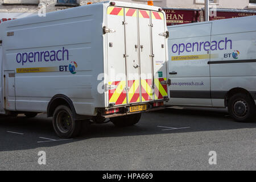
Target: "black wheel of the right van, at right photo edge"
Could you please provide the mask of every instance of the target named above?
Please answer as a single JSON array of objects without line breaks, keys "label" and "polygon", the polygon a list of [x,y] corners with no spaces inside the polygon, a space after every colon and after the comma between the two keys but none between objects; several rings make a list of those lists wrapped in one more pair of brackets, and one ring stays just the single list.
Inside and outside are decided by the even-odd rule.
[{"label": "black wheel of the right van, at right photo edge", "polygon": [[237,122],[251,122],[255,117],[256,106],[247,94],[237,93],[230,97],[228,111]]}]

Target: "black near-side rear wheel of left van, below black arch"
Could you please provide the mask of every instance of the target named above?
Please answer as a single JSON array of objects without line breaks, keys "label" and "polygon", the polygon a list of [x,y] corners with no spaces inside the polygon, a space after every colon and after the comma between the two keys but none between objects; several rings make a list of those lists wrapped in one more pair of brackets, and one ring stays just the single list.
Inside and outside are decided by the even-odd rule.
[{"label": "black near-side rear wheel of left van, below black arch", "polygon": [[55,109],[52,125],[60,138],[76,137],[81,130],[81,121],[76,121],[72,117],[71,109],[65,105],[60,105]]}]

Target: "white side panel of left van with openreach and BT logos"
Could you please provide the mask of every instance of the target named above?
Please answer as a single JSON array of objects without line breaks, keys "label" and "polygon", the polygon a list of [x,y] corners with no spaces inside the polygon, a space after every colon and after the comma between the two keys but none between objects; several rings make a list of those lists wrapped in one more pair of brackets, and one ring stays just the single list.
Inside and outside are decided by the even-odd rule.
[{"label": "white side panel of left van with openreach and BT logos", "polygon": [[97,92],[104,72],[103,5],[57,11],[6,23],[3,70],[15,71],[17,111],[44,112],[56,94],[71,98],[76,113],[104,107]]}]

